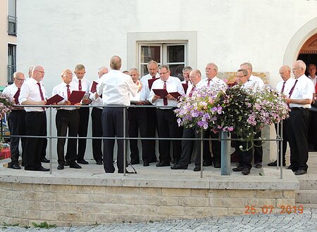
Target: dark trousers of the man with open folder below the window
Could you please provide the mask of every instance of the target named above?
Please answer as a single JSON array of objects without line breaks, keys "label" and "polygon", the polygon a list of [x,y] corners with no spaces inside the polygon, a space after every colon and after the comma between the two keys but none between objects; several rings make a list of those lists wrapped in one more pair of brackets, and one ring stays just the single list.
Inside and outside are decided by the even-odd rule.
[{"label": "dark trousers of the man with open folder below the window", "polygon": [[[173,111],[156,109],[158,130],[160,138],[181,138],[182,128],[178,127],[176,115]],[[161,162],[170,162],[170,142],[173,146],[173,160],[178,162],[181,153],[180,140],[160,140],[159,141],[159,160]]]}]

